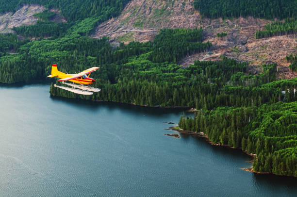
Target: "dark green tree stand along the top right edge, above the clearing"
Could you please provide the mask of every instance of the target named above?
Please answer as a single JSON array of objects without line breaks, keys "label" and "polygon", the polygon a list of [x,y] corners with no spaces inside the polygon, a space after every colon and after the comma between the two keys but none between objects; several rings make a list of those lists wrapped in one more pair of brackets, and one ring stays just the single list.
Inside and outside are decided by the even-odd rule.
[{"label": "dark green tree stand along the top right edge, above the clearing", "polygon": [[284,19],[297,16],[297,0],[194,0],[194,7],[209,18],[254,16]]}]

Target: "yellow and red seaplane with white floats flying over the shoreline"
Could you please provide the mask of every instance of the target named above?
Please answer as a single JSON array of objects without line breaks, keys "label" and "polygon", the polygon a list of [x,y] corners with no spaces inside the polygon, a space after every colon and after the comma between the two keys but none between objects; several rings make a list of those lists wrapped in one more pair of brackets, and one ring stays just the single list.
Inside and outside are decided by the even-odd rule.
[{"label": "yellow and red seaplane with white floats flying over the shoreline", "polygon": [[[48,77],[60,78],[60,80],[58,80],[59,82],[62,82],[63,84],[70,86],[70,87],[66,87],[66,86],[55,84],[54,85],[55,87],[73,92],[75,94],[92,95],[94,92],[101,91],[101,89],[99,88],[88,86],[89,84],[92,84],[93,82],[96,81],[90,78],[91,72],[94,72],[98,69],[99,67],[91,67],[78,74],[66,74],[64,72],[59,71],[57,65],[54,64],[51,66],[51,74]],[[72,83],[68,83],[68,81]],[[78,84],[74,84],[74,83],[78,83]]]}]

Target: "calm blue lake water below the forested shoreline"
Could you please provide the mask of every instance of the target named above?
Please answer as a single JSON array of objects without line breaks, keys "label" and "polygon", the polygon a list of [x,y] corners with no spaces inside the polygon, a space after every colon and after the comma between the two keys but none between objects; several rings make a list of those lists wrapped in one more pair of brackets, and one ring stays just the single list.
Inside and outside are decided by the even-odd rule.
[{"label": "calm blue lake water below the forested shoreline", "polygon": [[[0,87],[0,196],[297,196],[297,180],[254,175],[240,151],[165,136],[181,110]],[[191,115],[191,114],[189,114]]]}]

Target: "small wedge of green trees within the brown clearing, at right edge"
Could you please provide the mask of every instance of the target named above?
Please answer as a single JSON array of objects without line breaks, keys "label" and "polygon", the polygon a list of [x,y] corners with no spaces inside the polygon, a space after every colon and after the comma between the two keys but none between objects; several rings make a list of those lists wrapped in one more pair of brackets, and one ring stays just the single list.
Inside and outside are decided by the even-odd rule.
[{"label": "small wedge of green trees within the brown clearing, at right edge", "polygon": [[264,31],[257,31],[255,33],[256,39],[279,36],[279,35],[288,35],[288,34],[297,34],[297,20],[285,20],[284,22],[272,22],[265,25]]}]

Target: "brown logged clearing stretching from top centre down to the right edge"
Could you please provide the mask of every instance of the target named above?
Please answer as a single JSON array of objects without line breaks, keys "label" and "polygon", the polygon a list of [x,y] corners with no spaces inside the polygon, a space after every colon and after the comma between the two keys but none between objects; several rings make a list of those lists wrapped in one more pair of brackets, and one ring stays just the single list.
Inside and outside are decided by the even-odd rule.
[{"label": "brown logged clearing stretching from top centre down to the right edge", "polygon": [[[255,39],[255,33],[263,30],[267,19],[239,17],[234,19],[202,18],[194,8],[194,0],[132,0],[121,15],[100,24],[92,37],[110,37],[114,44],[131,41],[152,41],[163,28],[204,29],[205,42],[213,44],[212,50],[188,56],[179,62],[189,66],[196,60],[218,60],[220,55],[248,62],[250,71],[258,73],[264,63],[277,63],[279,79],[297,77],[289,71],[285,56],[296,52],[294,35],[282,35]],[[217,33],[228,33],[218,39]]]}]

